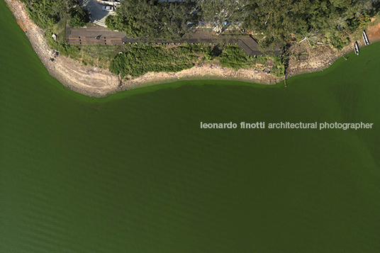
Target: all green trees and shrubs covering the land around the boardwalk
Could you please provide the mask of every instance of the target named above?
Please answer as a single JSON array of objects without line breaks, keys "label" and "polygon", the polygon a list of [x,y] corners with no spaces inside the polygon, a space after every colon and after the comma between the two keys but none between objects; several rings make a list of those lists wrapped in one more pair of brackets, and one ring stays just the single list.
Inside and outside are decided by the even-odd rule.
[{"label": "all green trees and shrubs covering the land around the boardwalk", "polygon": [[[252,68],[255,58],[248,57],[239,47],[220,47],[216,53],[211,47],[181,46],[173,48],[153,45],[102,47],[67,45],[65,23],[71,27],[85,26],[87,13],[77,0],[22,0],[30,17],[46,31],[49,45],[62,55],[69,55],[83,64],[110,68],[122,76],[136,77],[146,72],[176,72],[202,61],[219,60],[233,69]],[[359,36],[374,16],[380,0],[124,0],[116,9],[116,16],[106,18],[111,30],[124,31],[128,37],[143,41],[179,39],[199,21],[215,29],[216,33],[229,28],[253,33],[259,50],[271,55],[275,48],[288,41],[306,40],[310,45],[318,41],[330,44],[338,50],[350,43],[350,36]],[[57,34],[57,41],[52,40]],[[223,40],[220,36],[220,40]],[[105,47],[104,47],[105,48]],[[118,52],[122,52],[118,54]],[[186,55],[189,52],[189,55]],[[266,58],[267,59],[267,58]],[[269,63],[269,64],[268,64]],[[284,74],[281,57],[267,59],[271,74]],[[272,67],[273,66],[273,67]]]}]

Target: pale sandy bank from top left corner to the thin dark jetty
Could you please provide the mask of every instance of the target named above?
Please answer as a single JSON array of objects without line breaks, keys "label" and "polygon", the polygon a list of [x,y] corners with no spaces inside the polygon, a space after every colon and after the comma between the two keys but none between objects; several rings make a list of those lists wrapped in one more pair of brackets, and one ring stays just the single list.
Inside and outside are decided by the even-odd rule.
[{"label": "pale sandy bank from top left corner to the thin dark jetty", "polygon": [[221,79],[238,79],[262,84],[275,84],[281,79],[276,79],[262,72],[254,73],[252,69],[240,69],[235,71],[222,68],[215,64],[203,64],[181,72],[149,72],[141,77],[130,80],[121,80],[115,74],[106,69],[89,67],[76,62],[69,57],[58,55],[51,61],[52,50],[43,36],[44,30],[35,25],[28,17],[26,8],[20,1],[5,0],[16,17],[18,24],[26,32],[33,49],[43,62],[48,72],[67,88],[87,96],[103,97],[117,91],[134,89],[145,83],[162,83],[165,81],[184,79],[189,77],[200,78],[216,76]]}]

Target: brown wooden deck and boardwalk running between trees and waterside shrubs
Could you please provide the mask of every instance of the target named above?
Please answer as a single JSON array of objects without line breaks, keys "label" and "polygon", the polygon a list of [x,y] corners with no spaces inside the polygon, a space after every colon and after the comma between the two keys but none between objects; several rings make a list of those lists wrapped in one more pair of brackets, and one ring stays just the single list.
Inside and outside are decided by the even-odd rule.
[{"label": "brown wooden deck and boardwalk running between trees and waterside shrubs", "polygon": [[[96,36],[100,36],[99,40]],[[125,43],[138,43],[140,40],[134,38],[127,38],[125,33],[109,30],[108,28],[92,26],[86,28],[67,28],[66,40],[68,44],[93,44],[93,45],[123,45]],[[264,55],[259,51],[256,41],[249,35],[211,35],[210,33],[203,33],[201,30],[196,30],[195,33],[185,34],[180,40],[155,40],[153,43],[226,43],[236,44],[242,48],[247,55]],[[274,52],[279,55],[279,50]]]}]

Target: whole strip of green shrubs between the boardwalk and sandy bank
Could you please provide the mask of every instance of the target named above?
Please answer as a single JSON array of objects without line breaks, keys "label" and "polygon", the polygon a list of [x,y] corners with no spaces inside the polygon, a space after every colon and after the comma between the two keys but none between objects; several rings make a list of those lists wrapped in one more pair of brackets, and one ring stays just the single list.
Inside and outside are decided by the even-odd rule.
[{"label": "whole strip of green shrubs between the boardwalk and sandy bank", "polygon": [[272,67],[271,74],[281,77],[284,64],[279,56],[250,57],[238,45],[182,45],[166,48],[145,43],[144,45],[128,45],[123,52],[111,60],[109,69],[122,77],[138,77],[147,72],[178,72],[196,64],[217,60],[223,67],[232,69],[252,69],[259,62]]}]

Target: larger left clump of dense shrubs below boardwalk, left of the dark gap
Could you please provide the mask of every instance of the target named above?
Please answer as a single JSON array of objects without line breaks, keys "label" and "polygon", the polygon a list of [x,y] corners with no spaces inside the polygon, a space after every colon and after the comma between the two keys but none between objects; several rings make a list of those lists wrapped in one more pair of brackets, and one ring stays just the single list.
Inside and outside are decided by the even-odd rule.
[{"label": "larger left clump of dense shrubs below boardwalk, left of the dark gap", "polygon": [[127,45],[111,61],[110,70],[122,77],[138,77],[147,72],[178,72],[211,58],[210,47],[183,45],[165,48],[150,44]]}]

